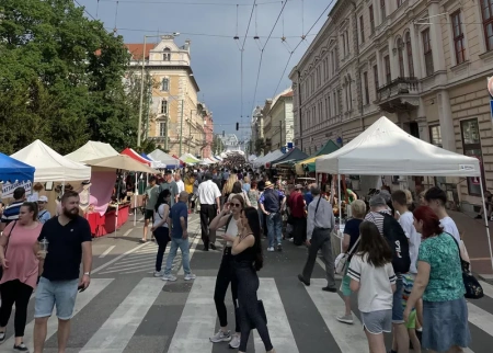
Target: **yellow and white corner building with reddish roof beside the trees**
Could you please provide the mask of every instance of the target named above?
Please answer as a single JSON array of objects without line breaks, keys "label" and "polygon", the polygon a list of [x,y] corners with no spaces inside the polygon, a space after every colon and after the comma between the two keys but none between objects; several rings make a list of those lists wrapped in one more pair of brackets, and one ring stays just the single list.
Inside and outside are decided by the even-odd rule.
[{"label": "yellow and white corner building with reddish roof beside the trees", "polygon": [[191,152],[202,157],[210,152],[211,114],[197,99],[199,88],[191,66],[191,42],[177,46],[174,38],[163,35],[158,44],[126,44],[131,54],[130,67],[140,73],[145,53],[145,71],[152,79],[145,135],[171,155]]}]

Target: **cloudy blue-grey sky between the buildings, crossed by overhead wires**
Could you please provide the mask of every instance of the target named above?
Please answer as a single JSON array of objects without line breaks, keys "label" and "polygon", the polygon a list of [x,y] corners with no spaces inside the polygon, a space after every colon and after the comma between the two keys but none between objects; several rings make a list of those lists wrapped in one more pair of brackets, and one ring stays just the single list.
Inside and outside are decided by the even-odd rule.
[{"label": "cloudy blue-grey sky between the buildings, crossed by overhead wires", "polygon": [[[245,36],[253,0],[78,0],[77,2],[84,5],[91,15],[103,21],[110,31],[116,27],[126,43],[142,43],[146,34],[172,32],[181,33],[176,38],[179,45],[183,45],[184,41],[190,38],[192,68],[200,88],[198,96],[213,111],[215,133],[226,130],[236,133],[240,138],[246,138],[252,110],[261,105],[265,99],[290,86],[288,73],[323,25],[328,11],[308,33],[306,41],[301,41],[300,36],[307,34],[332,1],[288,0],[271,39],[266,43],[284,3],[280,0],[257,0],[244,44],[243,84],[241,84],[239,46]],[[237,34],[240,37],[239,43],[233,39]],[[259,35],[260,41],[255,41],[254,35]],[[287,37],[286,43],[282,42],[282,36]],[[300,42],[283,76],[290,52]],[[264,55],[255,91],[262,47]],[[236,122],[240,122],[244,127],[240,133],[236,132]]]}]

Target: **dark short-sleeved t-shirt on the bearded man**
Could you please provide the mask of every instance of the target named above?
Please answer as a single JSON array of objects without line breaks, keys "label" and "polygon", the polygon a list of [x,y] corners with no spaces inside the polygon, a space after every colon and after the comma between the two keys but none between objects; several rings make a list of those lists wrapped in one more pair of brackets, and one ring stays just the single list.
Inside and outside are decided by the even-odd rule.
[{"label": "dark short-sleeved t-shirt on the bearded man", "polygon": [[77,216],[62,226],[58,217],[43,225],[38,241],[48,240],[48,253],[43,265],[43,277],[49,281],[79,278],[82,243],[91,241],[91,227],[85,218]]}]

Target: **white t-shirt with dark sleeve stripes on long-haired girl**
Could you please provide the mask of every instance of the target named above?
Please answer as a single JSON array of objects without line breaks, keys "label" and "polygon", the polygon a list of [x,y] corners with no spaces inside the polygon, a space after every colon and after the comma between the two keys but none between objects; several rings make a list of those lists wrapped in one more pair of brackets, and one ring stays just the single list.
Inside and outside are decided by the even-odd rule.
[{"label": "white t-shirt with dark sleeve stripes on long-haired girl", "polygon": [[348,276],[359,282],[358,309],[362,312],[372,312],[378,310],[392,309],[393,292],[392,284],[395,284],[395,274],[392,263],[375,267],[366,262],[359,254],[355,254],[351,260]]}]

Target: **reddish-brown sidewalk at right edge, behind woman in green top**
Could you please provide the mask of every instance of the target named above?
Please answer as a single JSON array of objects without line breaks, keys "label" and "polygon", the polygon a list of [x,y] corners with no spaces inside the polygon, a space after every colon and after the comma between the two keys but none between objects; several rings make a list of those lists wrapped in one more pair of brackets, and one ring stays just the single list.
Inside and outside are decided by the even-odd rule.
[{"label": "reddish-brown sidewalk at right edge, behind woman in green top", "polygon": [[[483,277],[483,280],[493,280],[484,219],[474,219],[475,214],[473,213],[447,212],[462,234],[462,240],[471,259],[472,272]],[[491,237],[493,237],[493,221],[489,221],[489,224],[492,232]]]}]

